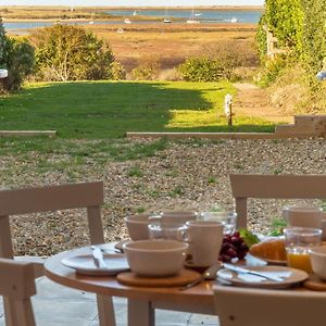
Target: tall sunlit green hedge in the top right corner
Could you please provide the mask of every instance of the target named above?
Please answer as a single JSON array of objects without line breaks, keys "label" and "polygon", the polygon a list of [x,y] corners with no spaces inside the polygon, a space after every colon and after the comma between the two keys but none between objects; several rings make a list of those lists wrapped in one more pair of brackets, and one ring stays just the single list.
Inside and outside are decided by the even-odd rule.
[{"label": "tall sunlit green hedge in the top right corner", "polygon": [[[289,64],[297,61],[305,68],[306,84],[313,91],[321,85],[315,78],[326,58],[326,7],[325,0],[266,0],[265,12],[256,34],[263,65],[266,63],[267,26],[277,37],[277,47],[287,50]],[[269,64],[267,62],[267,64]],[[265,68],[267,74],[268,67]],[[274,78],[266,77],[266,80]]]}]

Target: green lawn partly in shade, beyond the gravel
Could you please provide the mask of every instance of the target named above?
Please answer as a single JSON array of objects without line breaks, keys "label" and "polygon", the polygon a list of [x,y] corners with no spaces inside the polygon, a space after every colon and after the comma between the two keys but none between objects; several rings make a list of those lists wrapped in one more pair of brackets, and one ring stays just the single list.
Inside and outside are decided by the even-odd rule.
[{"label": "green lawn partly in shade, beyond the gravel", "polygon": [[76,82],[28,84],[0,98],[0,129],[55,129],[60,138],[122,138],[126,131],[271,131],[262,120],[223,116],[230,83]]}]

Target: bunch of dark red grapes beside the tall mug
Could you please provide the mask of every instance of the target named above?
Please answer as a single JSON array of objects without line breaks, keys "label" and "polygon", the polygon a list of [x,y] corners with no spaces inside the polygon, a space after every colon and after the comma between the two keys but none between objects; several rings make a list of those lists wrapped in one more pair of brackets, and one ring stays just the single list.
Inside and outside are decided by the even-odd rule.
[{"label": "bunch of dark red grapes beside the tall mug", "polygon": [[244,243],[240,233],[235,231],[233,235],[224,235],[218,260],[222,262],[242,260],[248,250],[249,247]]}]

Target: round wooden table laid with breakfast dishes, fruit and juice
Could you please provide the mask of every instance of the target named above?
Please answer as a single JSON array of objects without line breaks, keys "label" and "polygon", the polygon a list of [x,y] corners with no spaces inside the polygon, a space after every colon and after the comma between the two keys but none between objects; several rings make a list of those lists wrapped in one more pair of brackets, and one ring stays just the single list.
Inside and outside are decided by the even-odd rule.
[{"label": "round wooden table laid with breakfast dishes, fruit and juice", "polygon": [[215,315],[215,285],[326,291],[325,214],[289,206],[283,215],[280,237],[237,229],[233,211],[129,215],[129,239],[61,252],[45,273],[66,287],[127,298],[129,326],[155,325],[155,309]]}]

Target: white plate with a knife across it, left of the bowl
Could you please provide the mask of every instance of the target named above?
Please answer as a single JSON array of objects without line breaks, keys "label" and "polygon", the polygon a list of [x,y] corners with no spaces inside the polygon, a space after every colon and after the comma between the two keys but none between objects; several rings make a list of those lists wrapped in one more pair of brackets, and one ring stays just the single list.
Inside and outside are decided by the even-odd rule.
[{"label": "white plate with a knife across it, left of the bowl", "polygon": [[103,259],[108,268],[97,267],[91,253],[73,254],[62,259],[61,263],[85,275],[116,275],[120,272],[129,269],[127,259],[124,254],[103,253]]}]

